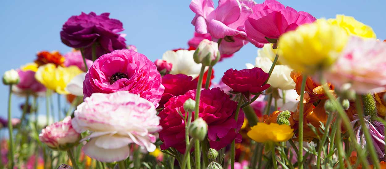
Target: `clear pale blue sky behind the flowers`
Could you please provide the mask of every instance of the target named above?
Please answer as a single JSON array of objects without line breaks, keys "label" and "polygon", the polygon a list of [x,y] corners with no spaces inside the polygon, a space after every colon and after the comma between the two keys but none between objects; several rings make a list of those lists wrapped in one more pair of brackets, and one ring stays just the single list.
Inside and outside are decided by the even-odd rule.
[{"label": "clear pale blue sky behind the flowers", "polygon": [[[261,3],[262,0],[255,0]],[[355,17],[370,25],[377,37],[386,38],[385,0],[279,0],[298,11],[306,11],[316,18],[334,18],[336,14]],[[109,12],[119,19],[126,33],[126,43],[137,46],[138,51],[154,61],[175,48],[186,48],[193,36],[191,20],[194,13],[189,0],[65,0],[65,1],[2,1],[0,7],[0,73],[31,62],[41,50],[70,48],[61,43],[59,32],[71,15],[81,12]],[[215,4],[217,1],[215,0]],[[215,81],[229,68],[244,69],[245,63],[254,63],[257,48],[245,45],[232,58],[215,65]],[[6,117],[8,88],[0,85],[0,116]],[[54,97],[56,103],[56,97]],[[23,99],[14,96],[13,116],[20,117],[19,105]],[[40,101],[44,109],[44,101]],[[63,105],[63,104],[62,104]],[[56,109],[55,109],[56,110]],[[43,113],[44,111],[40,111]]]}]

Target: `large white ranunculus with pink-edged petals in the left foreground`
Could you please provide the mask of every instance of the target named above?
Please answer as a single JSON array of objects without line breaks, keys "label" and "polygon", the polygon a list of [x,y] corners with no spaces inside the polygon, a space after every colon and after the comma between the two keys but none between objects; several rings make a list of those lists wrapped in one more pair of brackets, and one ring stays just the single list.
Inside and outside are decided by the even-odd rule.
[{"label": "large white ranunculus with pink-edged petals in the left foreground", "polygon": [[[103,57],[103,56],[102,56]],[[139,94],[129,91],[93,93],[75,110],[72,121],[74,129],[92,133],[83,152],[98,161],[122,161],[129,156],[130,143],[156,149],[154,133],[159,131],[159,117],[154,104]]]}]

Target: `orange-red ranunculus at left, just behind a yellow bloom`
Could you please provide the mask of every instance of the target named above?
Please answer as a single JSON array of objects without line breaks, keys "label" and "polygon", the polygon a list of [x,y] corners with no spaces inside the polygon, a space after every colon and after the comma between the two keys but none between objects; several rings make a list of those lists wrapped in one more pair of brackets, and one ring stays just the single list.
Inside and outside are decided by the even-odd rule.
[{"label": "orange-red ranunculus at left, just behind a yellow bloom", "polygon": [[39,66],[47,63],[53,63],[56,66],[64,66],[64,57],[59,53],[59,51],[41,51],[37,53],[35,63]]}]

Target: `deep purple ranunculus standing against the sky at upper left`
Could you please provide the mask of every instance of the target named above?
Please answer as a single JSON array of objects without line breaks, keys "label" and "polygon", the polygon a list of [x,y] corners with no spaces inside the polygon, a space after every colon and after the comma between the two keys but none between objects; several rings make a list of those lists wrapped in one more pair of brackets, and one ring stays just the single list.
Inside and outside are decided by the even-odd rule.
[{"label": "deep purple ranunculus standing against the sky at upper left", "polygon": [[95,44],[97,58],[117,49],[125,49],[122,22],[109,18],[110,13],[100,15],[90,12],[68,18],[60,32],[62,42],[72,48],[84,48],[86,58],[92,58]]}]

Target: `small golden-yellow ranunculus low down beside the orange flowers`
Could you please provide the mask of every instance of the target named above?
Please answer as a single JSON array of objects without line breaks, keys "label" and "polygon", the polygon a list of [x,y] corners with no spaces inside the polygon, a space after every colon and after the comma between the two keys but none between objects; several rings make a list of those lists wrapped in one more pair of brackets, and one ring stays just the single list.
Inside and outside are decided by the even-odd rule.
[{"label": "small golden-yellow ranunculus low down beside the orange flowers", "polygon": [[284,142],[292,138],[293,129],[286,124],[257,123],[247,135],[256,142]]}]

